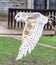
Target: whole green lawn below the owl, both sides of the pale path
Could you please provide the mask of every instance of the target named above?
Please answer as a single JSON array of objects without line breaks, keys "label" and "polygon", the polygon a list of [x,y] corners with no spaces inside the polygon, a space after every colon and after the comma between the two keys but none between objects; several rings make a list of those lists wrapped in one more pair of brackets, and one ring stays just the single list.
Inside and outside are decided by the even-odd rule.
[{"label": "whole green lawn below the owl, both sides of the pale path", "polygon": [[[39,42],[48,42],[53,45],[54,38],[41,37]],[[44,40],[44,41],[43,41]],[[49,40],[49,41],[48,41]],[[37,45],[31,54],[27,54],[22,60],[24,62],[16,62],[13,60],[16,58],[18,49],[21,42],[9,37],[0,37],[0,65],[56,65],[56,50]],[[55,45],[55,44],[54,44]]]}]

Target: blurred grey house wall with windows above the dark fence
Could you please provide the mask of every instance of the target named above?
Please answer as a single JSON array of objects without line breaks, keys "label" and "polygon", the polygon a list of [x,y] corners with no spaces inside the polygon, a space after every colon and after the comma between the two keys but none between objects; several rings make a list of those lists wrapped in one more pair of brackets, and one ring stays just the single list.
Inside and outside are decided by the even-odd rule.
[{"label": "blurred grey house wall with windows above the dark fence", "polygon": [[8,13],[8,8],[56,9],[56,0],[0,0],[0,13]]}]

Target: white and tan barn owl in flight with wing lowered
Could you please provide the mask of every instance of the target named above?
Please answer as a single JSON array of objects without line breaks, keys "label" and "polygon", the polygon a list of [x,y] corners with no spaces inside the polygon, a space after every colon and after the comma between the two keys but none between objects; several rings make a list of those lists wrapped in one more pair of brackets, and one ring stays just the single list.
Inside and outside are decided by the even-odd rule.
[{"label": "white and tan barn owl in flight with wing lowered", "polygon": [[15,16],[16,22],[25,22],[25,27],[22,33],[22,44],[19,48],[19,53],[16,60],[20,60],[23,56],[35,48],[42,35],[44,25],[48,22],[48,17],[39,12],[25,13],[19,12]]}]

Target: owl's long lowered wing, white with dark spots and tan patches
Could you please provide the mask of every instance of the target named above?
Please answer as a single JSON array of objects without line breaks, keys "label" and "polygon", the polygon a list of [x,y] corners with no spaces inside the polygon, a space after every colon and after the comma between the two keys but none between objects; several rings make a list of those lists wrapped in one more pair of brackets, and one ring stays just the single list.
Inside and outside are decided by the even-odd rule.
[{"label": "owl's long lowered wing, white with dark spots and tan patches", "polygon": [[37,19],[36,16],[35,18],[34,16],[26,19],[27,23],[25,24],[25,28],[23,30],[22,45],[19,48],[16,60],[26,56],[27,53],[31,53],[42,35],[44,25],[48,22],[48,18],[42,14],[39,18],[37,16]]}]

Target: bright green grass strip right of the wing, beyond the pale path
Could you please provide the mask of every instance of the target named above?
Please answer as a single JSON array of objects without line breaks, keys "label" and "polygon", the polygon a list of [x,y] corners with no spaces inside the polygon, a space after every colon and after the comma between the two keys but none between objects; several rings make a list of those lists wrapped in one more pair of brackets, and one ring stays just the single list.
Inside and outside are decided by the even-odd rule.
[{"label": "bright green grass strip right of the wing, beyond the pale path", "polygon": [[56,46],[56,36],[42,36],[39,43]]}]

